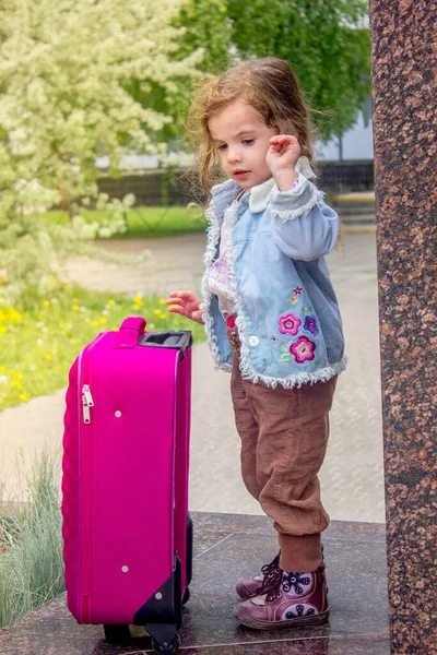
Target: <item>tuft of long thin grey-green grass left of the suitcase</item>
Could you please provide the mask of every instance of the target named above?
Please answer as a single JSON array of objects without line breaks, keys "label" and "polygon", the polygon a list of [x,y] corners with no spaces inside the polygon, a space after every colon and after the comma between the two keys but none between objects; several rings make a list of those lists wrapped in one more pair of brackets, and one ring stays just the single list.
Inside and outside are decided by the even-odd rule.
[{"label": "tuft of long thin grey-green grass left of the suitcase", "polygon": [[23,498],[5,499],[0,483],[0,628],[64,591],[59,480],[59,456],[45,450]]}]

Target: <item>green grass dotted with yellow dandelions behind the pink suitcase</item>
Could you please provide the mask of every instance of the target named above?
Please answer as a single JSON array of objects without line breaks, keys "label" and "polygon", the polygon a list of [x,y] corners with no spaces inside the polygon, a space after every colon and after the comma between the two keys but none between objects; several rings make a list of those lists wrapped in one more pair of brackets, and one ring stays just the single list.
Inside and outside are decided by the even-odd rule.
[{"label": "green grass dotted with yellow dandelions behind the pink suitcase", "polygon": [[191,330],[204,340],[203,326],[167,312],[157,296],[134,299],[88,291],[55,281],[45,300],[0,307],[0,410],[67,386],[80,350],[99,332],[117,330],[128,315],[141,315],[150,332]]}]

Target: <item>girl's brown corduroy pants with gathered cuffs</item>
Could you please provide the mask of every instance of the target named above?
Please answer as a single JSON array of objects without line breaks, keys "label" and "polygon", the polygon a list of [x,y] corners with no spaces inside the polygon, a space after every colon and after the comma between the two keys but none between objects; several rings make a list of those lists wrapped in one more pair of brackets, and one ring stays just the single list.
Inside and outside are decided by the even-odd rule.
[{"label": "girl's brown corduroy pants with gathered cuffs", "polygon": [[249,492],[274,520],[285,571],[315,571],[329,516],[317,474],[328,445],[336,377],[300,388],[271,389],[244,380],[234,352],[231,391],[241,439],[241,474]]}]

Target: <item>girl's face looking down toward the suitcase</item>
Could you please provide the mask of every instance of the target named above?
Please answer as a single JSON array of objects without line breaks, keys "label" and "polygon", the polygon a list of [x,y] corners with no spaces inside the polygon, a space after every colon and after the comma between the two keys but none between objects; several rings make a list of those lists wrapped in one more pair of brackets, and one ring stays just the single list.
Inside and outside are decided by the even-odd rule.
[{"label": "girl's face looking down toward the suitcase", "polygon": [[234,100],[208,122],[224,172],[243,189],[251,189],[272,177],[265,162],[270,139],[268,128],[256,109]]}]

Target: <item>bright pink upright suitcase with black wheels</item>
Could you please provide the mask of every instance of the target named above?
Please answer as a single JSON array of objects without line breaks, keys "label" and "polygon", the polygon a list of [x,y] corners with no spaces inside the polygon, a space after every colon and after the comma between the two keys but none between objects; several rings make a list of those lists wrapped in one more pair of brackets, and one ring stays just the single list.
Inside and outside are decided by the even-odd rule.
[{"label": "bright pink upright suitcase with black wheels", "polygon": [[145,626],[156,653],[179,647],[189,597],[191,333],[128,318],[70,370],[62,457],[68,607],[110,643]]}]

